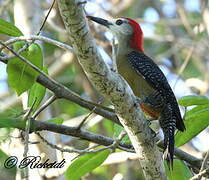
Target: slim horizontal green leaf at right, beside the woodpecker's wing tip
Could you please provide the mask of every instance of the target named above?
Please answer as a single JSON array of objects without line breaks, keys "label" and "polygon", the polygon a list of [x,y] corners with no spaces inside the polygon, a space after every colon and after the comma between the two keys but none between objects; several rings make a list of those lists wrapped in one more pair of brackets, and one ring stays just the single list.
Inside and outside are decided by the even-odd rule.
[{"label": "slim horizontal green leaf at right, beside the woodpecker's wing tip", "polygon": [[206,96],[189,95],[184,96],[178,100],[181,106],[203,105],[209,104],[209,99]]}]

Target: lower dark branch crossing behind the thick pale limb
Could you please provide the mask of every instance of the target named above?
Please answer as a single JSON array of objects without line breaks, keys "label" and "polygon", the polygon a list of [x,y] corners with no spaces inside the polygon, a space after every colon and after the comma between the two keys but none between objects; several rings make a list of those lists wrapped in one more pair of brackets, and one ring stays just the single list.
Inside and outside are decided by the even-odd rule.
[{"label": "lower dark branch crossing behind the thick pale limb", "polygon": [[[2,127],[12,127],[21,130],[25,130],[26,121],[21,118],[10,118],[2,117],[0,118],[0,128]],[[65,125],[57,125],[49,122],[43,122],[39,120],[32,120],[30,125],[30,132],[37,132],[47,130],[54,133],[59,133],[67,136],[78,137],[83,140],[97,143],[99,145],[110,146],[114,143],[114,139],[102,135],[98,135],[83,129],[78,129],[77,127],[69,127]],[[159,147],[163,147],[163,142],[158,144]],[[120,143],[117,148],[127,151],[135,152],[132,145]],[[189,163],[193,168],[200,169],[202,160],[198,159],[178,148],[175,148],[174,154],[181,160]]]}]

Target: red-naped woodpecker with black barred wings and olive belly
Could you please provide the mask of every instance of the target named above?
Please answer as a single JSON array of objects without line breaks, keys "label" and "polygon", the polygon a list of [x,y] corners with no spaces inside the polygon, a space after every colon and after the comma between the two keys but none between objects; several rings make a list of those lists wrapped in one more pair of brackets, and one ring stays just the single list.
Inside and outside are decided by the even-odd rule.
[{"label": "red-naped woodpecker with black barred wings and olive belly", "polygon": [[174,133],[176,128],[186,130],[175,95],[163,72],[144,53],[143,32],[140,25],[130,18],[107,21],[87,16],[88,19],[107,27],[118,40],[116,65],[135,96],[141,99],[141,109],[158,119],[164,134],[164,152],[173,166]]}]

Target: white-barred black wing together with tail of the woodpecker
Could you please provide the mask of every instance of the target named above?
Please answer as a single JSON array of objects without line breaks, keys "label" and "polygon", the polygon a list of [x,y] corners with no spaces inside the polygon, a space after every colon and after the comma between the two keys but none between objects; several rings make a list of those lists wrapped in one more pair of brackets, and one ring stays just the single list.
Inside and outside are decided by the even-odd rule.
[{"label": "white-barred black wing together with tail of the woodpecker", "polygon": [[[160,97],[164,104],[160,113],[159,123],[164,133],[164,150],[167,152],[166,159],[172,166],[175,129],[185,130],[175,95],[163,72],[144,53],[132,51],[128,54],[128,61],[132,68],[157,92],[157,96]],[[151,96],[151,98],[154,98],[153,95]],[[158,101],[159,98],[155,99]]]}]

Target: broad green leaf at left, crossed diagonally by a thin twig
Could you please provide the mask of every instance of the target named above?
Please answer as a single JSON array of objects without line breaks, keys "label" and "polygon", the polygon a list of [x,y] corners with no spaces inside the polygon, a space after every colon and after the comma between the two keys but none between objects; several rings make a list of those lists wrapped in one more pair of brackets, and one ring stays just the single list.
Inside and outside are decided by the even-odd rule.
[{"label": "broad green leaf at left, crossed diagonally by a thin twig", "polygon": [[[23,47],[24,44],[25,43],[22,41],[15,43],[14,50],[17,51]],[[20,53],[20,55],[28,59],[32,64],[42,70],[43,56],[41,48],[38,44],[32,44],[27,50]],[[17,57],[8,61],[7,73],[8,83],[10,87],[17,92],[18,96],[30,89],[39,75],[37,71],[32,69],[29,65]]]}]

